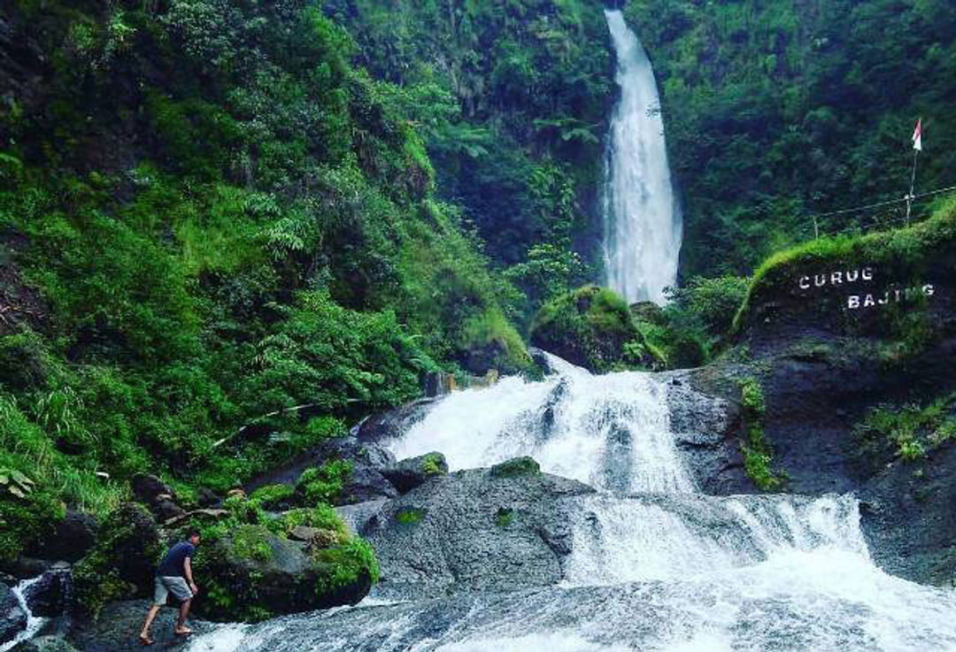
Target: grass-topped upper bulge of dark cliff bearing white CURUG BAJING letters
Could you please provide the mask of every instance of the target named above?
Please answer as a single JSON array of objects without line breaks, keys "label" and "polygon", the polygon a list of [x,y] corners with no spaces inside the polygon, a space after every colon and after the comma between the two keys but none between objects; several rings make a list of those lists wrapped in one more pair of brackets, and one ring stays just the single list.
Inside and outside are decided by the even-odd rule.
[{"label": "grass-topped upper bulge of dark cliff bearing white CURUG BAJING letters", "polygon": [[956,202],[909,228],[814,240],[753,274],[733,330],[750,345],[805,334],[897,342],[906,354],[951,331]]}]

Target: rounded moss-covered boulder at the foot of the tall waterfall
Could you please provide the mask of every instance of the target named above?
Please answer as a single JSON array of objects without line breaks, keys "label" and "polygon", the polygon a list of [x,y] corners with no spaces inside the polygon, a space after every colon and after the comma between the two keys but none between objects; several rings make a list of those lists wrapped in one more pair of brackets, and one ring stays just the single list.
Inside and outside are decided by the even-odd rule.
[{"label": "rounded moss-covered boulder at the foot of the tall waterfall", "polygon": [[598,373],[652,362],[627,303],[596,285],[561,294],[542,306],[532,322],[531,341]]}]

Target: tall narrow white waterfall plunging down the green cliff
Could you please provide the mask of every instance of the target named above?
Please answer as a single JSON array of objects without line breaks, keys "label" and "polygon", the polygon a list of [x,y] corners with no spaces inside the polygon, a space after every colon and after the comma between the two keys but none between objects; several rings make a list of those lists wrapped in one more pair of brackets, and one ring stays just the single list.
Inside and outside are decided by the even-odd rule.
[{"label": "tall narrow white waterfall plunging down the green cliff", "polygon": [[620,11],[604,11],[620,99],[611,120],[603,196],[607,284],[628,302],[664,302],[677,279],[681,212],[667,165],[657,83]]}]

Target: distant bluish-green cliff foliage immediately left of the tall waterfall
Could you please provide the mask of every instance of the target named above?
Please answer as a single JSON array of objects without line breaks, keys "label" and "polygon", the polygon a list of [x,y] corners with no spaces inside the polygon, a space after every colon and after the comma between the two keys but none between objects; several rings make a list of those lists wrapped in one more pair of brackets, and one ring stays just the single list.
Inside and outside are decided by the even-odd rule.
[{"label": "distant bluish-green cliff foliage immediately left of the tall waterfall", "polygon": [[[355,35],[372,75],[400,84],[398,104],[422,125],[438,191],[464,206],[491,257],[530,264],[516,282],[541,292],[530,250],[567,250],[572,231],[587,233],[576,247],[597,258],[594,198],[613,99],[599,5],[515,0],[448,11],[331,0],[325,9]],[[533,297],[525,314],[548,298]]]}]

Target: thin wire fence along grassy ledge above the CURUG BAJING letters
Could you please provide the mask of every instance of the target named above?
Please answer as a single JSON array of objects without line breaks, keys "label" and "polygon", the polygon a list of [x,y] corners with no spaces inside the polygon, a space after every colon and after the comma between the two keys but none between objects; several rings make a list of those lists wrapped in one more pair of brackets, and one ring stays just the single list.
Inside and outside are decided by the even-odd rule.
[{"label": "thin wire fence along grassy ledge above the CURUG BAJING letters", "polygon": [[[806,222],[799,229],[799,235],[807,239],[815,239],[827,235],[905,227],[930,217],[933,214],[932,200],[953,192],[956,192],[956,185],[929,190],[911,197],[904,196],[866,206],[816,213],[807,217]],[[836,224],[834,218],[836,218]]]}]

